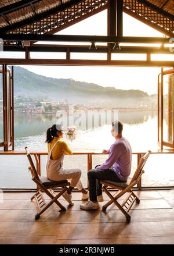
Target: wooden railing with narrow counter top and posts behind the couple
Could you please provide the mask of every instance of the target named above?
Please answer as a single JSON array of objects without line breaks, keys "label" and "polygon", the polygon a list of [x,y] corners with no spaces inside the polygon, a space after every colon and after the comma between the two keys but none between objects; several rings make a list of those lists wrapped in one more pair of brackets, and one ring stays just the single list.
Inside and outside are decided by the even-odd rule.
[{"label": "wooden railing with narrow counter top and posts behind the couple", "polygon": [[[133,152],[132,155],[137,155],[137,165],[139,164],[140,158],[146,152]],[[41,155],[48,155],[46,151],[30,151],[31,155],[34,155],[38,175],[41,175]],[[174,154],[174,149],[169,150],[151,150],[151,154]],[[9,150],[0,151],[0,155],[26,155],[26,151],[23,150]],[[87,155],[88,156],[88,171],[92,169],[92,156],[93,155],[103,155],[102,152],[73,152],[73,155]],[[139,180],[137,189],[142,189],[142,179]]]}]

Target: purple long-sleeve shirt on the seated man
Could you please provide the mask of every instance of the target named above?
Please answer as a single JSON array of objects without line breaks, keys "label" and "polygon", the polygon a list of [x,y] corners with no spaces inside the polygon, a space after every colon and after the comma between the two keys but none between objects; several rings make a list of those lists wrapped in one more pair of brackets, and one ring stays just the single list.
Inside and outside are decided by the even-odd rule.
[{"label": "purple long-sleeve shirt on the seated man", "polygon": [[129,141],[124,137],[115,140],[108,152],[108,158],[97,169],[113,169],[120,180],[126,181],[131,173],[132,161],[132,149]]}]

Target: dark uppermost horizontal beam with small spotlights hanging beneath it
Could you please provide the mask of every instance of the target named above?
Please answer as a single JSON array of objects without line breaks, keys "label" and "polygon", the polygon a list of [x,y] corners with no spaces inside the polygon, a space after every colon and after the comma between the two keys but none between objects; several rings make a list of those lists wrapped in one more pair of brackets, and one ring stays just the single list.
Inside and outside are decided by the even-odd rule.
[{"label": "dark uppermost horizontal beam with small spotlights hanging beneath it", "polygon": [[164,37],[115,37],[105,35],[47,35],[47,34],[0,34],[3,40],[17,41],[66,41],[66,42],[129,42],[129,43],[169,43]]}]

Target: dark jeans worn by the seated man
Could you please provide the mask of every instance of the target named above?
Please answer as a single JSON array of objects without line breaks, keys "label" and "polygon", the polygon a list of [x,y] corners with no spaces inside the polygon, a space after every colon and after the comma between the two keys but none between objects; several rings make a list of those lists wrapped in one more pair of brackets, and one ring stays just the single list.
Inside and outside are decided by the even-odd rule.
[{"label": "dark jeans worn by the seated man", "polygon": [[[97,168],[97,166],[95,168]],[[119,177],[114,172],[114,170],[111,170],[111,169],[89,170],[88,180],[89,180],[89,197],[90,197],[90,201],[93,201],[93,202],[97,201],[97,195],[102,195],[102,184],[100,184],[100,180],[110,180],[111,182],[122,182],[122,180],[119,179]]]}]

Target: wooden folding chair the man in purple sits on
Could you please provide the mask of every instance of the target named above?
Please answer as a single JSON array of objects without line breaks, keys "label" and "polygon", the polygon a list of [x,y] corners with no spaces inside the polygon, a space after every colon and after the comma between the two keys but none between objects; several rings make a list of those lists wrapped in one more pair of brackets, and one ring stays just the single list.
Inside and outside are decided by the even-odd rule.
[{"label": "wooden folding chair the man in purple sits on", "polygon": [[[126,216],[126,221],[131,221],[131,216],[128,214],[130,209],[132,208],[132,205],[136,201],[138,204],[140,202],[139,198],[137,198],[136,194],[133,193],[132,188],[139,182],[140,177],[142,177],[144,170],[143,167],[147,161],[147,158],[149,157],[151,151],[149,150],[142,158],[140,158],[139,165],[137,166],[137,169],[135,171],[135,174],[133,175],[131,181],[129,182],[129,178],[127,182],[110,182],[108,180],[102,180],[100,183],[103,184],[103,191],[106,192],[108,197],[111,198],[110,201],[107,202],[107,204],[103,205],[102,210],[106,211],[107,207],[111,204],[117,205],[117,207],[122,211],[122,213]],[[107,187],[112,187],[113,189],[117,189],[118,192],[113,196],[111,195],[110,191],[108,191]],[[122,202],[122,204],[119,204],[118,199],[124,195],[125,193],[128,193],[125,200]]]}]

